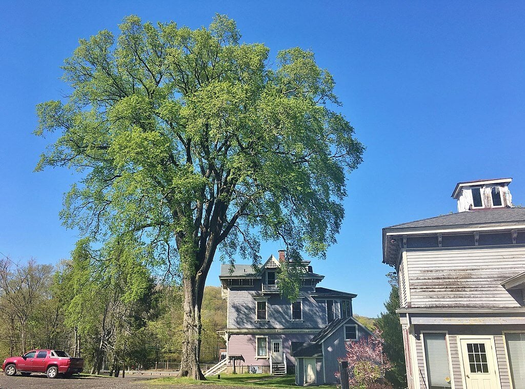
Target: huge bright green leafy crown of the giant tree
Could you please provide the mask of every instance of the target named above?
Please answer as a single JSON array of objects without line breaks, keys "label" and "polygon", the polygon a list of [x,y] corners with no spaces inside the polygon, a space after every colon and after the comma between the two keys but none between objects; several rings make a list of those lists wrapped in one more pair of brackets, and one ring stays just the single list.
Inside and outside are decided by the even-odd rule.
[{"label": "huge bright green leafy crown of the giant tree", "polygon": [[70,96],[37,106],[35,133],[58,139],[36,169],[83,177],[65,225],[188,277],[205,278],[216,249],[260,263],[261,239],[323,257],[364,148],[311,51],[268,54],[223,15],[195,30],[128,16],[117,37],[81,39]]}]

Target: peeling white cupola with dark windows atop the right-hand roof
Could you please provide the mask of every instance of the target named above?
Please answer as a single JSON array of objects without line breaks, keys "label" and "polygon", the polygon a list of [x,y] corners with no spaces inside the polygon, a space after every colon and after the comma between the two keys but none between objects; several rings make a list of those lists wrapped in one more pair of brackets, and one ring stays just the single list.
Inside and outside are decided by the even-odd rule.
[{"label": "peeling white cupola with dark windows atop the right-hand roof", "polygon": [[512,178],[458,182],[452,193],[458,212],[512,207],[511,182]]}]

